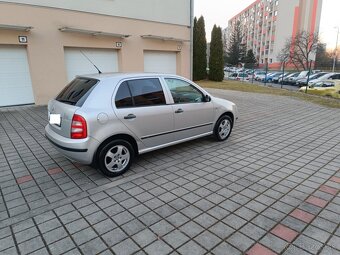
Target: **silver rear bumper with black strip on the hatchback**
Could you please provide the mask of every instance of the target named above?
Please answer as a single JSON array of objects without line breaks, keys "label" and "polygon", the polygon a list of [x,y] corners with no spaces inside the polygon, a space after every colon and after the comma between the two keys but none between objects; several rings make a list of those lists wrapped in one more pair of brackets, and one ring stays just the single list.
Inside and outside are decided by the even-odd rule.
[{"label": "silver rear bumper with black strip on the hatchback", "polygon": [[99,142],[91,137],[86,139],[70,139],[54,132],[50,125],[45,127],[47,140],[67,158],[82,164],[91,164]]}]

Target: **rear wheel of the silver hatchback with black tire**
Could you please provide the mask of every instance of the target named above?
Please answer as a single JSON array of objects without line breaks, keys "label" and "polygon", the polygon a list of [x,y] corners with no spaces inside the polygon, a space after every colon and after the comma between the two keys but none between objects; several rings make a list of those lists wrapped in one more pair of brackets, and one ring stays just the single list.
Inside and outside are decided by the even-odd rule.
[{"label": "rear wheel of the silver hatchback with black tire", "polygon": [[119,176],[130,168],[134,154],[133,147],[128,141],[113,140],[99,151],[97,164],[104,175]]}]

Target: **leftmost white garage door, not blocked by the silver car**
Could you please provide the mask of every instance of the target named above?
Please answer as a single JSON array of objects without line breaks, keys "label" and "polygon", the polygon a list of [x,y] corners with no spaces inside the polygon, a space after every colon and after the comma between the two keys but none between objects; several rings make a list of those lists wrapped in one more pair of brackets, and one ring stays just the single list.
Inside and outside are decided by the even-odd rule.
[{"label": "leftmost white garage door, not blocked by the silver car", "polygon": [[0,106],[34,103],[25,47],[0,46]]}]

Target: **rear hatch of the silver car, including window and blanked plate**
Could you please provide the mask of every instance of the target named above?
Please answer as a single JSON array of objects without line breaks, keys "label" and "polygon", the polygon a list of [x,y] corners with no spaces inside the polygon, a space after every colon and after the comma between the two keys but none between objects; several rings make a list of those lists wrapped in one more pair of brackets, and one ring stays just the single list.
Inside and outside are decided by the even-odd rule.
[{"label": "rear hatch of the silver car, including window and blanked plate", "polygon": [[[82,107],[97,83],[96,79],[77,77],[55,99],[49,102],[49,125],[54,132],[63,137],[71,137],[72,118],[76,111]],[[51,124],[52,118],[60,118],[60,122]]]}]

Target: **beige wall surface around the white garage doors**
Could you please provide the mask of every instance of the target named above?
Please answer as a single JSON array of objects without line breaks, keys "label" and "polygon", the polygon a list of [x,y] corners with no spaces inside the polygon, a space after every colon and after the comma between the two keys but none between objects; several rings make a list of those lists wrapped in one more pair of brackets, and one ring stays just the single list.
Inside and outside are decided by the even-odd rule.
[{"label": "beige wall surface around the white garage doors", "polygon": [[[7,4],[0,2],[0,24],[33,26],[30,32],[0,30],[1,44],[15,45],[18,35],[27,35],[27,52],[36,104],[46,104],[66,84],[64,47],[118,49],[120,72],[143,72],[144,50],[174,51],[177,54],[177,74],[190,77],[190,43],[143,39],[153,34],[190,40],[190,28],[157,22],[110,17],[54,8]],[[127,39],[97,37],[60,32],[60,27],[74,27],[108,33],[129,34]]]}]

